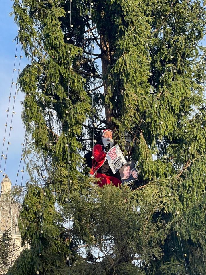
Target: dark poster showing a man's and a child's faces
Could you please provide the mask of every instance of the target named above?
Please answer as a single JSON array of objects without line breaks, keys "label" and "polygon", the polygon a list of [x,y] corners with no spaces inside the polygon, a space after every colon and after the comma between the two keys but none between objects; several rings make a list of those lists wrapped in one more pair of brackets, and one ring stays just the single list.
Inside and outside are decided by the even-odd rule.
[{"label": "dark poster showing a man's and a child's faces", "polygon": [[138,172],[134,165],[134,160],[128,161],[119,170],[122,183],[130,183],[138,179]]}]

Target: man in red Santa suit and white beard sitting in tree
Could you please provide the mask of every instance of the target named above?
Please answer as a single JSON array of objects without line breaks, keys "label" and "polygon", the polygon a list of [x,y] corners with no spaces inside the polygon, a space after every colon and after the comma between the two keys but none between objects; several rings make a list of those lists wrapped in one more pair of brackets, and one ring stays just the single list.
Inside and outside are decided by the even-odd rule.
[{"label": "man in red Santa suit and white beard sitting in tree", "polygon": [[108,164],[108,160],[106,159],[106,154],[113,145],[113,132],[110,129],[105,129],[103,131],[102,140],[99,144],[96,144],[92,150],[92,156],[94,159],[90,175],[98,178],[96,183],[100,187],[111,183],[116,187],[121,185],[121,181],[113,176],[114,174]]}]

